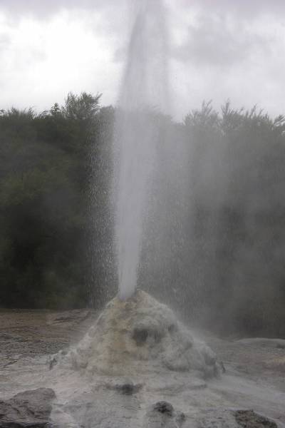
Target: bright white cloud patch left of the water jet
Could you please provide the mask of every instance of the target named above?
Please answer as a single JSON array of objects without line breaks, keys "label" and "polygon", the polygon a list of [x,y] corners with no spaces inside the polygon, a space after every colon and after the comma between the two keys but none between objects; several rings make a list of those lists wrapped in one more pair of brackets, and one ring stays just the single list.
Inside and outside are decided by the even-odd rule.
[{"label": "bright white cloud patch left of the water jet", "polygon": [[62,11],[44,21],[2,21],[0,108],[43,110],[62,103],[69,91],[103,92],[104,103],[114,102],[120,67],[112,61],[112,37],[91,31],[91,23],[98,29],[100,14]]}]

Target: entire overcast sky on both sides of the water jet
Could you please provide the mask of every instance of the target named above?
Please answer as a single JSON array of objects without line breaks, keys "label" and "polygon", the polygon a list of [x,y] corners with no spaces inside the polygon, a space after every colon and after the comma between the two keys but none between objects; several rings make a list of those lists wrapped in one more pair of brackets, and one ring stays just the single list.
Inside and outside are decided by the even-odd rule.
[{"label": "entire overcast sky on both sides of the water jet", "polygon": [[[155,1],[155,0],[153,0]],[[130,34],[128,0],[0,0],[0,109],[115,103]],[[284,0],[165,0],[172,113],[202,101],[285,113]]]}]

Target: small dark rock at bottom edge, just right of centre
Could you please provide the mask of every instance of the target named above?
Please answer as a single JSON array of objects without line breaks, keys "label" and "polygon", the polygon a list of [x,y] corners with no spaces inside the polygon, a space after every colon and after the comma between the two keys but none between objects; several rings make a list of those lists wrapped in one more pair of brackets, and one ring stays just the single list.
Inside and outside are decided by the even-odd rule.
[{"label": "small dark rock at bottom edge, just right of centre", "polygon": [[180,428],[184,421],[184,413],[177,412],[169,402],[161,401],[147,412],[144,428]]}]

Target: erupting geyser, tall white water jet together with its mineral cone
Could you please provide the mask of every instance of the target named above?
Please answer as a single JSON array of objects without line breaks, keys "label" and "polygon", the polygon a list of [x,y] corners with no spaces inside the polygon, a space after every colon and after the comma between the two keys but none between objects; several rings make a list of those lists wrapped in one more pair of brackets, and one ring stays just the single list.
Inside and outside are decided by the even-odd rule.
[{"label": "erupting geyser, tall white water jet together with its mineral cone", "polygon": [[218,372],[212,350],[192,337],[169,307],[137,290],[142,219],[155,162],[150,108],[167,106],[166,54],[162,2],[140,1],[115,128],[119,292],[76,347],[51,357],[51,367],[60,362],[88,374],[142,377],[154,372],[167,377],[170,370],[200,377]]}]

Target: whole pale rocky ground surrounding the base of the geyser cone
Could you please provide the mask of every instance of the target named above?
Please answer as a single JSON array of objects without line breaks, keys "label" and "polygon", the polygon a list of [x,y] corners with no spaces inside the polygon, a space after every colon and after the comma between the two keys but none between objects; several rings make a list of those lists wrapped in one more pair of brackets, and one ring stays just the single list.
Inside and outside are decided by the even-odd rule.
[{"label": "whole pale rocky ground surrounding the base of the geyser cone", "polygon": [[[91,380],[79,372],[49,370],[47,355],[76,344],[96,317],[90,310],[0,311],[0,427],[48,427],[47,419],[41,424],[25,419],[21,394],[11,402],[15,394],[37,389],[39,401],[30,393],[28,402],[41,407],[41,395],[44,401],[51,394],[44,388],[57,397],[52,401],[53,427],[285,426],[285,340],[228,340],[197,333],[225,369],[220,378],[206,382],[185,372]],[[22,419],[12,425],[5,418],[16,405]],[[34,414],[33,407],[30,412]]]}]

